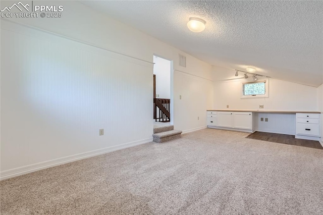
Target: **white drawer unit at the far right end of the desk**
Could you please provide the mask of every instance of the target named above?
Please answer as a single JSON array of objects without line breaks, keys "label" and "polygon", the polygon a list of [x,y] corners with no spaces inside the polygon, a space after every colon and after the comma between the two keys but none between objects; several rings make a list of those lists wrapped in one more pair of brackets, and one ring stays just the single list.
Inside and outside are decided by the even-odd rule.
[{"label": "white drawer unit at the far right end of the desk", "polygon": [[298,139],[319,140],[319,114],[296,113],[296,135]]}]

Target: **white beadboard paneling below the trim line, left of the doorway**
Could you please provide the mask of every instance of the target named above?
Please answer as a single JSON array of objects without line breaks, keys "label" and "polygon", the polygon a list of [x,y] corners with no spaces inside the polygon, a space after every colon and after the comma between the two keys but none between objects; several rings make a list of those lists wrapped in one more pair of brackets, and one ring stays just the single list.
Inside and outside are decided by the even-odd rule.
[{"label": "white beadboard paneling below the trim line, left of the doorway", "polygon": [[1,44],[2,176],[151,141],[152,64],[5,21]]}]

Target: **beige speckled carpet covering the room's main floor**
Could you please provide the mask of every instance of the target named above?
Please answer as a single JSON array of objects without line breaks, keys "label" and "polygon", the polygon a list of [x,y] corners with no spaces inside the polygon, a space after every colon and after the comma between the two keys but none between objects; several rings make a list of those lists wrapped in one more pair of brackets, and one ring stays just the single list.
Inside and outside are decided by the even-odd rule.
[{"label": "beige speckled carpet covering the room's main floor", "polygon": [[204,129],[1,182],[2,214],[323,214],[323,150]]}]

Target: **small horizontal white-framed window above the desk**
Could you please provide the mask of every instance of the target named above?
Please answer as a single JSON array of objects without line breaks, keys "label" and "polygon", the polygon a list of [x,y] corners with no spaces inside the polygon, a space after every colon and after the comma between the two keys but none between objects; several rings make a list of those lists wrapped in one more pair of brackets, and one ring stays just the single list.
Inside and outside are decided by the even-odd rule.
[{"label": "small horizontal white-framed window above the desk", "polygon": [[242,98],[268,97],[268,81],[243,82]]}]

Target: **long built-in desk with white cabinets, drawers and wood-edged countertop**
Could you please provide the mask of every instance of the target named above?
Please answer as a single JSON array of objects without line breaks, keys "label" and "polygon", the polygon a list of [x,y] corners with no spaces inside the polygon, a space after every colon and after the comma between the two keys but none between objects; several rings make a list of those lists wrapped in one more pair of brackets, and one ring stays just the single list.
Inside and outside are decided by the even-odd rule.
[{"label": "long built-in desk with white cabinets, drawers and wood-edged countertop", "polygon": [[[258,115],[270,115],[272,118]],[[282,117],[286,117],[287,120],[280,119]],[[284,121],[288,124],[282,127],[281,124],[284,124]],[[214,109],[207,110],[207,126],[209,128],[251,133],[255,131],[263,131],[292,134],[295,135],[295,138],[299,139],[319,140],[320,112]],[[281,126],[281,129],[275,130],[279,126]],[[283,128],[290,129],[287,131]]]}]

